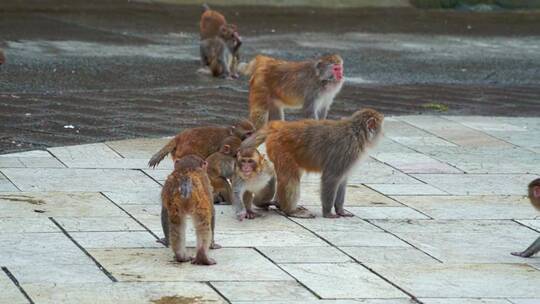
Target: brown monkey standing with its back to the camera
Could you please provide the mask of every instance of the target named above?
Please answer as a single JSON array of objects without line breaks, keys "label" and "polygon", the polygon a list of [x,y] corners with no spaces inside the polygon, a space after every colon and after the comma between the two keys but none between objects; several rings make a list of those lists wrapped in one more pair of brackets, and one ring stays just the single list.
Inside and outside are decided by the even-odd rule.
[{"label": "brown monkey standing with its back to the camera", "polygon": [[[213,265],[208,257],[214,243],[215,212],[212,186],[206,174],[207,163],[197,155],[186,155],[175,162],[161,191],[163,207],[168,214],[171,247],[177,262],[191,261],[198,265]],[[195,258],[186,252],[186,216],[190,215],[197,234]]]}]

